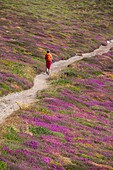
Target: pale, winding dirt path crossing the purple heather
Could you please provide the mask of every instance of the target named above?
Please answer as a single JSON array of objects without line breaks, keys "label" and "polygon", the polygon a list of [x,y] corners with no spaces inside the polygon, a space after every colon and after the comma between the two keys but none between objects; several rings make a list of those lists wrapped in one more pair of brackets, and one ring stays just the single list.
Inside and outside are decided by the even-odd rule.
[{"label": "pale, winding dirt path crossing the purple heather", "polygon": [[[51,72],[56,74],[63,68],[72,64],[75,61],[81,60],[83,58],[93,57],[95,55],[101,55],[108,52],[113,47],[113,40],[109,41],[106,46],[100,46],[93,52],[83,54],[82,56],[74,56],[68,60],[61,60],[53,63]],[[48,75],[41,73],[37,75],[34,79],[34,86],[31,89],[24,90],[19,93],[11,93],[7,96],[0,97],[0,123],[5,120],[6,117],[11,115],[14,111],[22,108],[23,106],[28,106],[36,101],[37,91],[41,91],[49,87],[49,82],[47,79]]]}]

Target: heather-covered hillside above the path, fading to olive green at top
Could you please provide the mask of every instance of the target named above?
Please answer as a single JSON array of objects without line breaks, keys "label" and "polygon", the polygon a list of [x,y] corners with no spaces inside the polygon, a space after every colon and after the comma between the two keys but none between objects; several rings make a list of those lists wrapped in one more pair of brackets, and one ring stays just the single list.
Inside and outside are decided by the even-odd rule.
[{"label": "heather-covered hillside above the path, fading to olive green at top", "polygon": [[0,96],[28,89],[54,61],[89,52],[112,38],[113,2],[78,0],[0,1]]}]

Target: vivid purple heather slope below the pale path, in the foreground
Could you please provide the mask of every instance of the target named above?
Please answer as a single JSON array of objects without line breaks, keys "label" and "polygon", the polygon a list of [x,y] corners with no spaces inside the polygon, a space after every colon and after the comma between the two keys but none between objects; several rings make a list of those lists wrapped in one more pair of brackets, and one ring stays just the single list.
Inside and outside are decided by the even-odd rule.
[{"label": "vivid purple heather slope below the pale path, in the foreground", "polygon": [[0,167],[113,169],[113,49],[51,77],[38,101],[1,126]]}]

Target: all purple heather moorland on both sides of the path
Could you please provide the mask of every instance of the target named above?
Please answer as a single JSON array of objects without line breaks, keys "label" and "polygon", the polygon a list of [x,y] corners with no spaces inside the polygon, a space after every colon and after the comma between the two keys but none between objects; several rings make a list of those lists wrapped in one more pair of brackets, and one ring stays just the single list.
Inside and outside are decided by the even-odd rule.
[{"label": "all purple heather moorland on both sides of the path", "polygon": [[[32,86],[47,48],[57,61],[113,37],[113,2],[4,0],[0,8],[1,96]],[[50,82],[37,103],[0,126],[0,168],[113,169],[113,49],[73,63]]]}]

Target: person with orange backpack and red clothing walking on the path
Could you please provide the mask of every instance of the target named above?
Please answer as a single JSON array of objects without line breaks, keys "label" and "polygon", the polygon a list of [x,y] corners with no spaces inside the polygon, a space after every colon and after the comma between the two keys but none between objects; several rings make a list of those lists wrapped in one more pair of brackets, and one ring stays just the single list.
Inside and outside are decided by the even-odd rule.
[{"label": "person with orange backpack and red clothing walking on the path", "polygon": [[46,60],[46,73],[49,75],[50,74],[50,68],[52,64],[52,55],[50,53],[50,50],[47,50],[47,53],[45,55],[45,60]]}]

